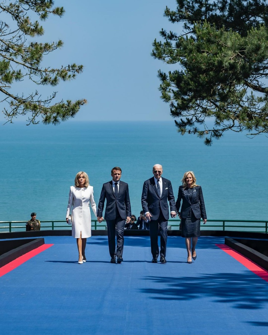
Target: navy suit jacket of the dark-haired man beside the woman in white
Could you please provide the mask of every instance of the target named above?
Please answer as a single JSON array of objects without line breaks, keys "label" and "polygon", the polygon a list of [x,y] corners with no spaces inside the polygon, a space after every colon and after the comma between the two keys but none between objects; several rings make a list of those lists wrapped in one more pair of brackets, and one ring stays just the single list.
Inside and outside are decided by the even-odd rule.
[{"label": "navy suit jacket of the dark-haired man beside the woman in white", "polygon": [[130,199],[128,193],[128,184],[119,181],[119,191],[116,198],[113,190],[113,182],[103,184],[102,192],[98,202],[97,216],[103,216],[104,203],[106,199],[105,220],[114,220],[116,218],[116,206],[122,219],[131,216]]}]

